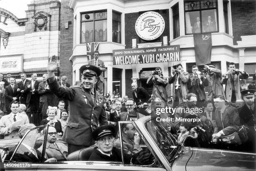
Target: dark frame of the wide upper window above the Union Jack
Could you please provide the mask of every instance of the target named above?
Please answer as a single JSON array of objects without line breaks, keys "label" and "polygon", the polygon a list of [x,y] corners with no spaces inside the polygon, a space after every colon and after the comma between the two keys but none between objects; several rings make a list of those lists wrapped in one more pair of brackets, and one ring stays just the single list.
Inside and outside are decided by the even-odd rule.
[{"label": "dark frame of the wide upper window above the Union Jack", "polygon": [[[104,19],[95,19],[95,13],[97,13],[97,12],[107,12],[107,17],[104,18]],[[93,14],[93,19],[92,20],[82,20],[82,15],[83,14],[88,14],[88,13],[92,13]],[[93,21],[93,38],[92,38],[92,42],[95,42],[95,21],[101,21],[101,20],[106,20],[107,23],[108,23],[108,10],[107,9],[97,10],[97,11],[80,12],[80,44],[91,43],[91,42],[82,42],[82,23],[83,22],[91,22],[91,21]],[[108,32],[108,29],[107,29],[107,32]],[[108,34],[107,34],[107,40],[106,41],[100,41],[100,42],[107,42],[107,41],[108,41]]]}]

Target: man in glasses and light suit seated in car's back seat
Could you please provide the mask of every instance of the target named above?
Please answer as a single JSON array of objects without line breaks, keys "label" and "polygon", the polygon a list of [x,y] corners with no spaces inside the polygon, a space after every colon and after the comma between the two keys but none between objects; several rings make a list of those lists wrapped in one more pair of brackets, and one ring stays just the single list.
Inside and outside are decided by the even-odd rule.
[{"label": "man in glasses and light suit seated in car's back seat", "polygon": [[[67,161],[67,146],[63,143],[56,143],[57,134],[56,129],[53,126],[49,126],[47,142],[46,142],[46,150],[45,150],[45,158],[55,158],[57,161]],[[38,148],[38,151],[42,153],[43,144]]]}]

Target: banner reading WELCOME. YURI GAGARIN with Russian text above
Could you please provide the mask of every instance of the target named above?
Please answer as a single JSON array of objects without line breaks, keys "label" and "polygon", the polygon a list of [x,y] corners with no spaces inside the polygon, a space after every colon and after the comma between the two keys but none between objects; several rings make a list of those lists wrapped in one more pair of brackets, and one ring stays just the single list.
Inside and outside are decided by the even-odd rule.
[{"label": "banner reading WELCOME. YURI GAGARIN with Russian text above", "polygon": [[179,45],[113,50],[113,65],[180,61]]}]

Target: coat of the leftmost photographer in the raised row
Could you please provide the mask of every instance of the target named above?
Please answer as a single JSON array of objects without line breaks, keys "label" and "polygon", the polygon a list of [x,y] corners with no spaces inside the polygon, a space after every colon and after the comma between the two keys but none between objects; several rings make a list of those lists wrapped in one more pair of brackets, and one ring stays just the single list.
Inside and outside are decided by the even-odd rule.
[{"label": "coat of the leftmost photographer in the raised row", "polygon": [[167,86],[166,78],[160,81],[156,81],[156,79],[153,80],[153,76],[150,76],[147,80],[147,84],[149,86],[153,85],[153,91],[152,91],[153,97],[159,97],[164,102],[167,102],[168,96],[166,92],[166,86]]}]

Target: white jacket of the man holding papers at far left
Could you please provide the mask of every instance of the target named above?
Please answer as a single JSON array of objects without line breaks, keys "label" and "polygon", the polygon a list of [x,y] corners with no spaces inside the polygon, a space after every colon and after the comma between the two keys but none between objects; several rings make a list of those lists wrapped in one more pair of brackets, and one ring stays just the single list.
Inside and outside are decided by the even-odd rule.
[{"label": "white jacket of the man holding papers at far left", "polygon": [[[18,116],[16,116],[16,121],[21,119],[24,120],[23,124],[29,124],[29,119],[26,114],[18,114]],[[13,124],[13,122],[14,120],[11,114],[5,115],[0,119],[0,134],[5,135],[5,139],[18,138],[18,129],[13,130],[8,134],[8,126]]]}]

